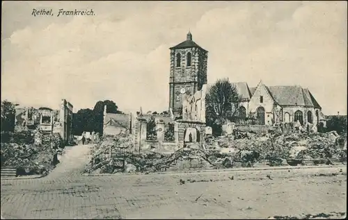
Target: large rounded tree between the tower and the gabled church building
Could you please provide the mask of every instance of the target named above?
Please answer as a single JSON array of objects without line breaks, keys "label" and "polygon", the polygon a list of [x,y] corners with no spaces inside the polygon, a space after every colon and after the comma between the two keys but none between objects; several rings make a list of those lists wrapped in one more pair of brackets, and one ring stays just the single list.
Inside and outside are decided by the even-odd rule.
[{"label": "large rounded tree between the tower and the gabled church building", "polygon": [[207,125],[221,126],[228,120],[234,120],[240,103],[241,96],[236,87],[226,78],[217,80],[205,96]]}]

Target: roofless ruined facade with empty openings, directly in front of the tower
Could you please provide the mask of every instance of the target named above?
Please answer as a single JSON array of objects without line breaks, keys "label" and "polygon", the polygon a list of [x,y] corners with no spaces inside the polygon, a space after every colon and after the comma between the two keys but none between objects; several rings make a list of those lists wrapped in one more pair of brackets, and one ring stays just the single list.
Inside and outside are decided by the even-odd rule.
[{"label": "roofless ruined facade with empty openings, directly in front of the tower", "polygon": [[173,153],[184,146],[203,148],[206,91],[203,85],[194,94],[180,94],[182,119],[175,120],[174,115],[136,115],[132,125],[136,150]]}]

